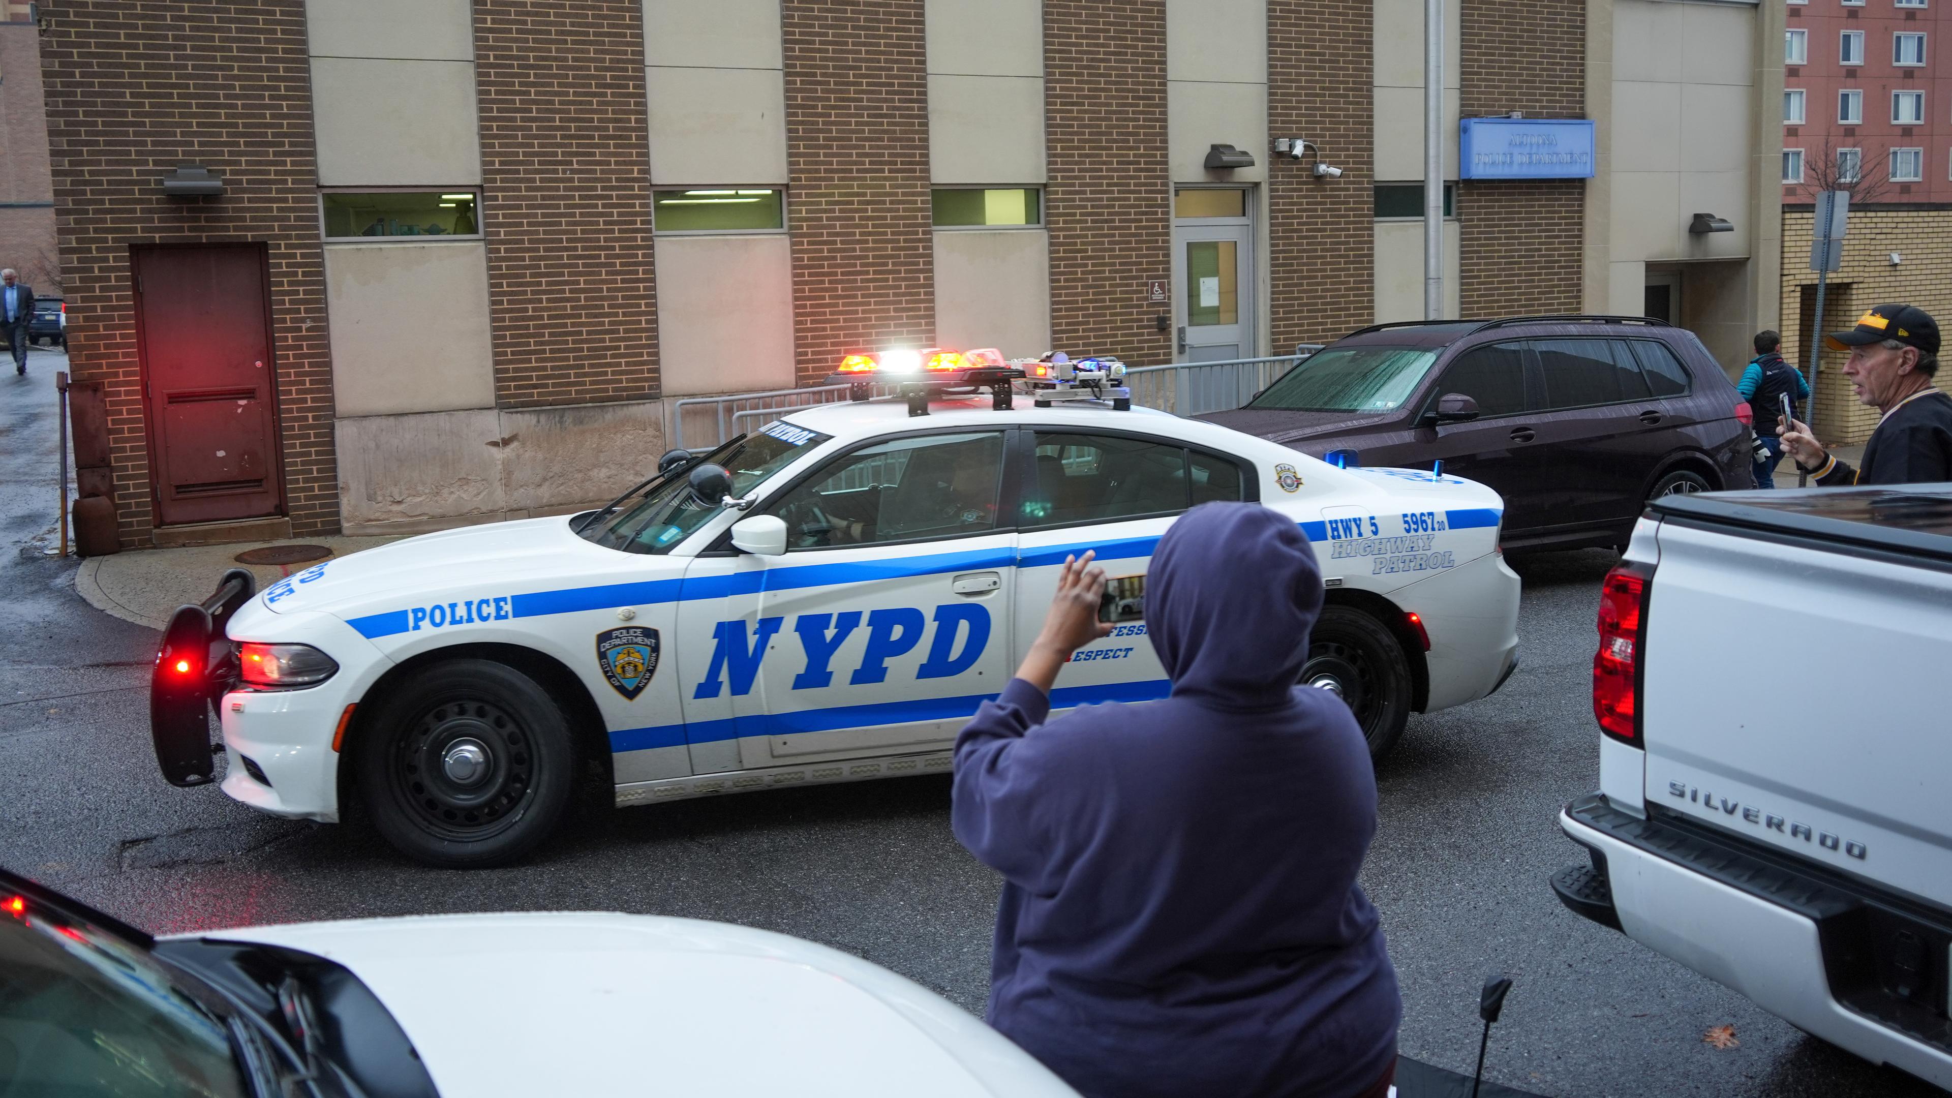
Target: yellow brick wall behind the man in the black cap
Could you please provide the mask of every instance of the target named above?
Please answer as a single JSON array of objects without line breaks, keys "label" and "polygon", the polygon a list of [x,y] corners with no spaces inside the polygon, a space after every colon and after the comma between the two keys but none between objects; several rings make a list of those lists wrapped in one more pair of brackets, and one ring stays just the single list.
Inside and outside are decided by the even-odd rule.
[{"label": "yellow brick wall behind the man in the black cap", "polygon": [[[1815,293],[1810,270],[1810,234],[1815,215],[1808,209],[1782,211],[1782,356],[1810,369],[1810,348],[1800,336],[1808,324],[1806,297]],[[1891,264],[1891,252],[1901,260]],[[1850,211],[1843,270],[1829,275],[1819,332],[1849,328],[1872,305],[1903,301],[1931,313],[1940,328],[1952,322],[1952,209]],[[1843,352],[1823,350],[1817,375],[1817,436],[1827,445],[1850,445],[1870,438],[1878,408],[1856,402],[1843,375]],[[1940,361],[1944,354],[1940,354]],[[1938,387],[1952,393],[1952,367],[1940,365]]]}]

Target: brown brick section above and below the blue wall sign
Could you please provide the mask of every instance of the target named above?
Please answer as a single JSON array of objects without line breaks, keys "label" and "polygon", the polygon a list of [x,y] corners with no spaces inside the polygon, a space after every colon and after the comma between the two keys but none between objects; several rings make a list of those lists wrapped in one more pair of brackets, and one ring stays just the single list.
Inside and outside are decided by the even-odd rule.
[{"label": "brown brick section above and below the blue wall sign", "polygon": [[[1585,117],[1585,0],[1460,2],[1464,117]],[[1585,188],[1585,180],[1458,184],[1464,317],[1579,313]]]}]

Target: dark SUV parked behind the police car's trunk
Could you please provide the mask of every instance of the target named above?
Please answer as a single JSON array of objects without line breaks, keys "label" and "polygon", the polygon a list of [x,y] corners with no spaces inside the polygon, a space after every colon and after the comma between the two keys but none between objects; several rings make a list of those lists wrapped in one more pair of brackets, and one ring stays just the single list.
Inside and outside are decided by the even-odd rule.
[{"label": "dark SUV parked behind the police car's trunk", "polygon": [[1199,416],[1351,465],[1444,463],[1505,496],[1507,547],[1626,545],[1651,496],[1755,486],[1749,404],[1642,317],[1376,324]]}]

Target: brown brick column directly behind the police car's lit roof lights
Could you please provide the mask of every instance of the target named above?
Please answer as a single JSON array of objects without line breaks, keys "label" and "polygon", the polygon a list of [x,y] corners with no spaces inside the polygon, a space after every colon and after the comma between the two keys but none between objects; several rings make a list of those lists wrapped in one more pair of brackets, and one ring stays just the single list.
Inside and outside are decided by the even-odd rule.
[{"label": "brown brick column directly behind the police car's lit roof lights", "polygon": [[802,385],[935,342],[923,0],[785,0],[787,219]]}]

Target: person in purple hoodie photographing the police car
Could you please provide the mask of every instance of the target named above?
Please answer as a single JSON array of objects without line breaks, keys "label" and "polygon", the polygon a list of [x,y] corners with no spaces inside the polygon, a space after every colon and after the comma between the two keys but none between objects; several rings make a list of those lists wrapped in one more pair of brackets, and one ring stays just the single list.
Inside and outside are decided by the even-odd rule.
[{"label": "person in purple hoodie photographing the police car", "polygon": [[1003,875],[990,1024],[1087,1098],[1380,1098],[1402,998],[1355,883],[1376,774],[1349,707],[1296,686],[1308,537],[1257,504],[1187,512],[1146,578],[1171,697],[1048,721],[1111,629],[1091,557],[956,737],[956,838]]}]

